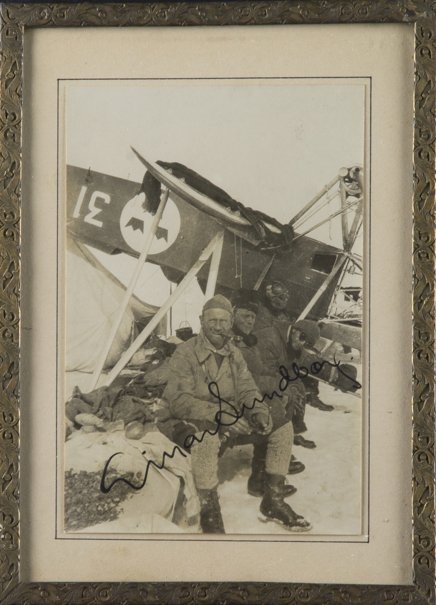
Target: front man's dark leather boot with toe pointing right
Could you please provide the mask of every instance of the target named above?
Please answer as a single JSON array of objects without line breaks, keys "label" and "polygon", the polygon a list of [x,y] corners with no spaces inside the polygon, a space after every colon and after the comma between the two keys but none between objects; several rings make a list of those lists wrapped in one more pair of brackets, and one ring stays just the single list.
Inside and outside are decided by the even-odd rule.
[{"label": "front man's dark leather boot with toe pointing right", "polygon": [[310,523],[284,502],[282,495],[284,482],[285,477],[282,475],[265,473],[265,494],[260,506],[259,520],[264,523],[274,521],[289,531],[310,531],[312,529]]}]

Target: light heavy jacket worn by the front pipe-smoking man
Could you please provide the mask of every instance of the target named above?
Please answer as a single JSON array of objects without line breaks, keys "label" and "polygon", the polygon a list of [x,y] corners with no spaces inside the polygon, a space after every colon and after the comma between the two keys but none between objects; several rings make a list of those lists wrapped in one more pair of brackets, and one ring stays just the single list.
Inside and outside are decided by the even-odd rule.
[{"label": "light heavy jacket worn by the front pipe-smoking man", "polygon": [[[201,330],[198,336],[179,345],[172,355],[163,399],[175,418],[215,422],[219,402],[209,391],[210,382],[218,384],[221,399],[234,405],[238,411],[242,410],[243,404],[247,408],[252,407],[255,397],[262,398],[235,346],[227,343],[221,349],[224,359],[219,369],[213,352],[215,349]],[[226,404],[222,404],[222,409],[231,411]],[[256,403],[253,410],[244,411],[244,418],[250,422],[255,412],[268,414],[268,408],[265,404]],[[223,416],[223,421],[231,422],[231,419]]]}]

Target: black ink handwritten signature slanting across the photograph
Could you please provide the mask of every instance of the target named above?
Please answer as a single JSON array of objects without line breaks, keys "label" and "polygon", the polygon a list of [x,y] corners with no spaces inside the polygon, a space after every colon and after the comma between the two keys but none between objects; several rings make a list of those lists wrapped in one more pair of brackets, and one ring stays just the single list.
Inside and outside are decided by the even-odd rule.
[{"label": "black ink handwritten signature slanting across the photograph", "polygon": [[[322,368],[324,367],[325,364],[328,364],[331,367],[337,368],[337,370],[341,374],[343,374],[343,376],[345,376],[351,382],[353,382],[353,388],[356,388],[356,389],[362,388],[362,385],[360,384],[360,382],[357,382],[356,380],[354,380],[354,378],[351,378],[351,376],[348,376],[348,374],[345,374],[345,372],[341,370],[341,368],[339,367],[340,361],[336,362],[336,359],[334,360],[333,364],[330,361],[313,362],[313,364],[311,364],[311,366],[310,366],[311,373],[314,375],[319,374],[319,372],[322,370]],[[281,365],[279,367],[279,372],[282,377],[279,382],[279,390],[281,391],[281,393],[283,393],[288,388],[288,385],[290,384],[290,382],[302,380],[302,379],[306,378],[309,374],[309,370],[307,367],[305,367],[304,365],[299,366],[296,363],[292,364],[292,371],[294,373],[294,378],[290,377],[289,371],[284,365]],[[213,391],[212,387],[216,387],[216,391]],[[206,437],[206,435],[208,435],[208,434],[210,436],[216,435],[216,433],[218,433],[218,431],[220,430],[220,427],[232,427],[232,425],[236,424],[236,422],[238,422],[238,420],[241,419],[242,416],[244,416],[244,413],[246,410],[253,410],[256,403],[262,404],[265,401],[265,399],[269,399],[271,401],[273,399],[273,397],[280,397],[280,398],[283,397],[283,395],[279,395],[276,391],[273,391],[270,395],[268,393],[265,393],[264,396],[262,397],[262,399],[258,399],[257,397],[255,397],[253,399],[253,405],[242,404],[242,409],[239,412],[238,410],[236,410],[234,405],[230,404],[230,402],[226,401],[226,399],[223,399],[223,397],[220,396],[220,388],[218,387],[218,384],[216,384],[216,382],[209,382],[209,384],[207,385],[207,388],[209,388],[209,393],[213,397],[218,399],[219,410],[215,414],[216,429],[213,431],[206,429],[203,431],[203,433],[201,434],[200,437],[197,437],[197,435],[195,435],[195,434],[188,435],[184,439],[184,442],[183,442],[183,446],[184,446],[184,448],[186,448],[186,450],[189,450],[189,448],[191,448],[192,445],[194,445],[194,443],[196,441],[198,443],[201,443],[203,441],[204,437]],[[231,410],[230,411],[223,410],[223,408],[221,407],[222,404],[229,405]],[[229,416],[232,419],[231,422],[223,422],[223,415]],[[108,494],[109,491],[111,491],[112,487],[119,481],[126,483],[132,489],[142,489],[145,486],[150,465],[154,465],[158,469],[164,468],[165,457],[174,458],[176,451],[178,451],[184,458],[187,458],[186,454],[184,454],[183,451],[181,451],[180,448],[177,445],[175,445],[172,450],[172,454],[168,454],[168,452],[164,451],[163,456],[162,456],[161,466],[159,466],[156,462],[153,462],[153,460],[148,460],[147,467],[145,470],[145,476],[144,476],[144,479],[143,479],[143,482],[141,485],[133,485],[133,483],[131,483],[128,479],[124,479],[123,477],[118,477],[117,479],[114,479],[108,487],[106,487],[106,485],[105,485],[106,473],[108,472],[109,463],[111,462],[111,460],[114,456],[119,456],[119,454],[123,454],[123,452],[117,452],[116,454],[112,454],[112,456],[109,458],[108,462],[106,462],[105,468],[103,469],[102,480],[100,481],[100,491],[102,491],[103,494]],[[145,453],[146,452],[143,451],[143,454],[145,454]]]}]

